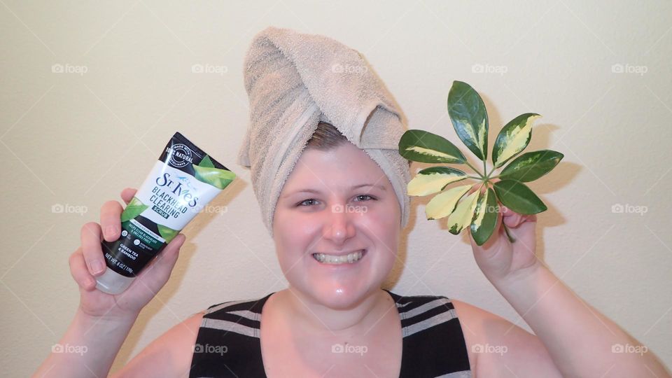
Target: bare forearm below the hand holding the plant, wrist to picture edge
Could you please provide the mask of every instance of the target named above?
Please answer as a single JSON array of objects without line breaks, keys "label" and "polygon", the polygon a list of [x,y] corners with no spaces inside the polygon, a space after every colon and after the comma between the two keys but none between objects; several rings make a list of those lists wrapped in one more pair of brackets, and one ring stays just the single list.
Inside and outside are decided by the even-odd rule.
[{"label": "bare forearm below the hand holding the plant, wrist to picture edge", "polygon": [[538,263],[493,285],[530,325],[563,377],[671,377],[646,346]]}]

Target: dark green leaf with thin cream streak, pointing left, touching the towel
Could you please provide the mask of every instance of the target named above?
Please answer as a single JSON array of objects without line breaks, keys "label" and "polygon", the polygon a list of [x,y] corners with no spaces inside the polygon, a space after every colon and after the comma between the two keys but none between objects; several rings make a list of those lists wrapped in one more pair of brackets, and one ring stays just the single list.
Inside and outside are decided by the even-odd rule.
[{"label": "dark green leaf with thin cream streak, pointing left, touching the towel", "polygon": [[408,130],[399,139],[399,154],[407,160],[464,164],[466,158],[448,139],[424,130]]}]

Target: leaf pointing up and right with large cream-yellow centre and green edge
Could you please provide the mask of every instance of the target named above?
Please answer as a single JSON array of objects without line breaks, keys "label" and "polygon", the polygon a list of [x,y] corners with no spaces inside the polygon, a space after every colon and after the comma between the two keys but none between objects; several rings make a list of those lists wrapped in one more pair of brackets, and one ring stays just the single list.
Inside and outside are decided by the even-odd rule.
[{"label": "leaf pointing up and right with large cream-yellow centre and green edge", "polygon": [[532,137],[532,121],[541,117],[535,113],[524,113],[510,120],[495,139],[492,148],[492,163],[501,167],[507,160],[523,151]]}]

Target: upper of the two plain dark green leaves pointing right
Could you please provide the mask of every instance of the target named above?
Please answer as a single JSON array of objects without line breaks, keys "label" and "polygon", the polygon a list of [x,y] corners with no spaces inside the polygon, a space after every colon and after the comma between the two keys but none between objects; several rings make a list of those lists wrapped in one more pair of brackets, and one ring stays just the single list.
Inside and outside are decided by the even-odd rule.
[{"label": "upper of the two plain dark green leaves pointing right", "polygon": [[563,154],[552,150],[524,153],[504,167],[499,178],[521,183],[534,181],[551,172],[563,157]]}]

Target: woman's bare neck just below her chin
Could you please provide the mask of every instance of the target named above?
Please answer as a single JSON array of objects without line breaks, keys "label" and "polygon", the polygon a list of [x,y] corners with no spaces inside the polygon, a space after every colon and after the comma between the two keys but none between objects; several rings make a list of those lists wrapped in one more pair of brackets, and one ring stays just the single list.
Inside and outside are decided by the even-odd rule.
[{"label": "woman's bare neck just below her chin", "polygon": [[291,286],[285,291],[285,303],[288,304],[288,313],[296,320],[294,323],[324,337],[365,335],[383,318],[389,307],[394,306],[382,289],[374,290],[346,309],[326,307]]}]

